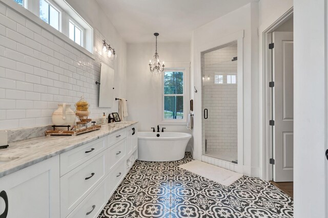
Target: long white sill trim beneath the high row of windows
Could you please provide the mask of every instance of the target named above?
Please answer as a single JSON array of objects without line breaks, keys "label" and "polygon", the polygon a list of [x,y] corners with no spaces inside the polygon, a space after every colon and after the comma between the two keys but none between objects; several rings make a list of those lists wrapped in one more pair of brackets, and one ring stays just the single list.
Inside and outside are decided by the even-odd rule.
[{"label": "long white sill trim beneath the high row of windows", "polygon": [[[61,33],[58,30],[56,30],[53,27],[51,27],[49,24],[45,23],[42,19],[40,19],[38,16],[36,16],[35,14],[33,14],[31,11],[29,11],[26,8],[18,5],[16,2],[14,2],[12,0],[0,0],[0,2],[4,3],[7,7],[10,7],[14,11],[22,14],[23,16],[25,16],[27,19],[31,20],[36,25],[38,25],[41,28],[47,30],[48,32],[50,32],[51,34],[57,36],[58,38],[64,40],[70,46],[74,47],[75,49],[79,50],[80,52],[83,52],[84,54],[86,54],[87,56],[89,56],[90,58],[92,58],[93,60],[95,60],[95,55],[94,54],[92,54],[91,52],[89,52],[87,49],[85,49],[85,48],[77,45],[77,43],[75,43],[74,41],[72,41],[67,35],[65,35],[64,33]],[[92,45],[94,47],[94,36],[93,36],[93,33],[92,33],[92,41],[93,41],[92,42]],[[93,47],[92,47],[92,51],[93,51]]]}]

